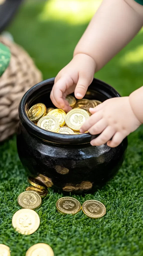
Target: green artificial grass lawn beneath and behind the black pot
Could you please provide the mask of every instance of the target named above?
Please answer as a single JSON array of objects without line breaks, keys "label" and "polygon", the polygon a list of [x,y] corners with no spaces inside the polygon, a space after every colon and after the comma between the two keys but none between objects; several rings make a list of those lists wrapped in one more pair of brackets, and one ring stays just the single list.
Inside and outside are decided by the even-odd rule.
[{"label": "green artificial grass lawn beneath and behind the black pot", "polygon": [[[72,51],[87,24],[71,25],[48,20],[40,22],[37,15],[42,3],[25,3],[9,28],[17,43],[35,59],[44,79],[57,72],[72,58]],[[110,83],[122,96],[142,86],[143,62],[124,66],[121,59],[135,51],[143,42],[137,37],[95,76]],[[30,236],[17,233],[11,224],[14,213],[21,209],[18,195],[29,185],[17,154],[16,136],[0,144],[0,243],[10,247],[11,256],[24,256],[33,244],[47,243],[55,256],[142,256],[143,255],[143,127],[129,135],[126,159],[118,174],[94,194],[75,196],[81,204],[97,199],[105,204],[107,214],[93,220],[83,212],[75,216],[61,215],[56,201],[62,195],[49,190],[36,212],[39,229]],[[44,255],[43,255],[44,256]]]}]

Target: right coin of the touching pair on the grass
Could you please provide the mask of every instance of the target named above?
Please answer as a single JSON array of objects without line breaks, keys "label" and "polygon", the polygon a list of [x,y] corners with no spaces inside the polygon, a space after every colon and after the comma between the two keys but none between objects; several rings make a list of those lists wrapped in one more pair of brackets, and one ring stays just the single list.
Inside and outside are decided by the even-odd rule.
[{"label": "right coin of the touching pair on the grass", "polygon": [[97,200],[87,200],[82,205],[84,214],[92,219],[98,219],[106,214],[105,205]]}]

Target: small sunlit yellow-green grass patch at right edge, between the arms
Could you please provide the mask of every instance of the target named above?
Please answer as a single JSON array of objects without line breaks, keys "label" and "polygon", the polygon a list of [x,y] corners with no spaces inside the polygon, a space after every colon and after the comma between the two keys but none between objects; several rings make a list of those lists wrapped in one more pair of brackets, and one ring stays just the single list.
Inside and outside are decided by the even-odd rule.
[{"label": "small sunlit yellow-green grass patch at right edge, between the arms", "polygon": [[121,59],[120,64],[126,66],[131,63],[143,62],[143,45],[136,47],[134,50],[127,52]]}]

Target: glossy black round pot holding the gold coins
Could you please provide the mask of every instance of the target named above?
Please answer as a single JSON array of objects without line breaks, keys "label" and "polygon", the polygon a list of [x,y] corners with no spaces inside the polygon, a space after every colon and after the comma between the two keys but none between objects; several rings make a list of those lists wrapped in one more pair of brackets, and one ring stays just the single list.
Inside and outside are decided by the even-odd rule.
[{"label": "glossy black round pot holding the gold coins", "polygon": [[[39,183],[47,187],[75,194],[91,192],[107,182],[120,168],[127,138],[116,148],[107,144],[91,146],[89,142],[95,136],[89,133],[66,135],[37,127],[26,112],[40,102],[47,108],[54,106],[50,100],[53,84],[54,78],[36,84],[20,102],[17,135],[20,160]],[[105,101],[112,97],[120,95],[108,84],[94,78],[86,98]]]}]

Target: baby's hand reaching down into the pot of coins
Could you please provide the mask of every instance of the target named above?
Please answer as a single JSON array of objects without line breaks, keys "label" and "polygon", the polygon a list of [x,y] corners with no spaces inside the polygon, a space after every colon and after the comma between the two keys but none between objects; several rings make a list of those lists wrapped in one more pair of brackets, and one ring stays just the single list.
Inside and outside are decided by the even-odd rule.
[{"label": "baby's hand reaching down into the pot of coins", "polygon": [[71,110],[66,97],[74,92],[77,99],[82,99],[95,73],[95,60],[86,54],[77,54],[70,63],[56,76],[50,94],[51,101],[57,108]]}]

